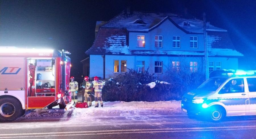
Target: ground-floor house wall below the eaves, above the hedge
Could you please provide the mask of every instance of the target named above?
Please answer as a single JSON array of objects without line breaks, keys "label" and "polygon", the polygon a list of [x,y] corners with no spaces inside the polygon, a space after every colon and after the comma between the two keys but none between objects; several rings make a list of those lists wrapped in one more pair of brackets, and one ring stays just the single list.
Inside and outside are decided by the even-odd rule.
[{"label": "ground-floor house wall below the eaves, above the hedge", "polygon": [[[190,67],[190,62],[198,62],[198,72],[204,72],[203,70],[203,58],[202,57],[170,57],[170,56],[125,56],[125,55],[106,55],[105,56],[105,78],[114,78],[121,73],[121,60],[127,61],[128,69],[137,69],[137,61],[145,61],[145,70],[148,69],[149,73],[155,73],[155,61],[163,62],[163,73],[172,67],[172,61],[181,62],[181,67]],[[119,60],[119,72],[114,72],[114,60]],[[90,55],[90,77],[98,76],[103,78],[103,58],[101,55]],[[99,63],[99,64],[98,64]],[[162,73],[155,73],[156,76],[163,75]]]}]

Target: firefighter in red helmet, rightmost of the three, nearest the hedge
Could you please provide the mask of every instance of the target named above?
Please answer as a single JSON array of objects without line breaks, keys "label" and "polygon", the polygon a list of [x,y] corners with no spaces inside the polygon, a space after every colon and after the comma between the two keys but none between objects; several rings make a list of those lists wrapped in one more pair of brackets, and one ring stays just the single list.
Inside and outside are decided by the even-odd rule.
[{"label": "firefighter in red helmet, rightmost of the three, nearest the hedge", "polygon": [[103,101],[101,98],[101,89],[103,88],[103,84],[102,84],[102,82],[99,81],[99,78],[97,76],[94,77],[94,81],[95,81],[95,83],[93,84],[93,88],[95,91],[95,94],[94,94],[95,108],[99,107],[98,101],[99,101],[101,107],[103,107]]}]

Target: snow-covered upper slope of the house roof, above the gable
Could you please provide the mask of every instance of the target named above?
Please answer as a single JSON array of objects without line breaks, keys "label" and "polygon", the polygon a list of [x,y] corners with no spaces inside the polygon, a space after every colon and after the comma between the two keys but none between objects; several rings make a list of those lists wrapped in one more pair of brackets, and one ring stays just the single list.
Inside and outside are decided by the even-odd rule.
[{"label": "snow-covered upper slope of the house roof, above the gable", "polygon": [[[149,31],[159,25],[164,19],[170,18],[174,23],[182,29],[191,33],[203,33],[203,21],[198,19],[184,19],[177,14],[172,13],[143,13],[134,11],[133,14],[125,14],[121,12],[119,15],[111,19],[103,25],[103,28],[126,28],[129,31]],[[137,21],[137,22],[136,22]],[[140,21],[140,22],[138,22]],[[184,26],[184,22],[186,26]],[[227,31],[214,27],[209,24],[207,30],[211,31]]]}]

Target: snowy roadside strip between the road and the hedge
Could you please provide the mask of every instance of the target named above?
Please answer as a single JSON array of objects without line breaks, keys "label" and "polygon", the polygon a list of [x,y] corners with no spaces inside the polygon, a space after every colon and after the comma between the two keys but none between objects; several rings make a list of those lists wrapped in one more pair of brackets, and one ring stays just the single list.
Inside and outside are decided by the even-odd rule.
[{"label": "snowy roadside strip between the road and the hedge", "polygon": [[158,114],[184,114],[181,111],[181,101],[157,101],[157,102],[104,102],[103,108],[71,108],[64,109],[36,109],[28,115],[24,115],[17,120],[41,119],[41,118],[88,118],[90,116],[134,116],[134,115],[158,115]]}]

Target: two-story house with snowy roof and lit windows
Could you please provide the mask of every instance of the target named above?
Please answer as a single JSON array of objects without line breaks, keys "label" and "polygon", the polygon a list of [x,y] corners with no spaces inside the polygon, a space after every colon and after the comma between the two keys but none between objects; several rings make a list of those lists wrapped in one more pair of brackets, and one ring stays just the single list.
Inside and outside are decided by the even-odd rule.
[{"label": "two-story house with snowy roof and lit windows", "polygon": [[[237,69],[238,57],[227,30],[207,24],[209,72]],[[205,72],[203,21],[171,13],[121,12],[101,25],[90,55],[90,76],[105,78],[135,69],[163,74],[170,67],[187,66]]]}]

